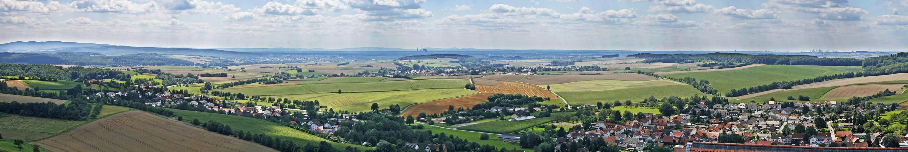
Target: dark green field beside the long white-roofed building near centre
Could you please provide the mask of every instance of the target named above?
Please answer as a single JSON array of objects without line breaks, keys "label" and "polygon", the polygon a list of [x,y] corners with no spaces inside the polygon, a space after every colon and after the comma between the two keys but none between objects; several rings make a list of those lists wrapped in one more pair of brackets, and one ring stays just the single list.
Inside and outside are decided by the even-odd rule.
[{"label": "dark green field beside the long white-roofed building near centre", "polygon": [[507,134],[512,132],[520,131],[524,128],[531,128],[533,126],[551,122],[555,119],[557,115],[570,115],[574,112],[559,112],[552,113],[551,117],[538,118],[538,119],[528,119],[522,121],[508,121],[508,120],[498,120],[498,121],[489,121],[476,125],[469,125],[460,127],[458,129],[462,130],[471,130],[479,132],[490,132],[496,134]]}]

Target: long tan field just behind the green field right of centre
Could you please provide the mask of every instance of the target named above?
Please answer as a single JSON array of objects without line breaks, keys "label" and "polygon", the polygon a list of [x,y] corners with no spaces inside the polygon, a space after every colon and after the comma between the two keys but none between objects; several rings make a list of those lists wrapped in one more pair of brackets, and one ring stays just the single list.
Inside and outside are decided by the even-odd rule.
[{"label": "long tan field just behind the green field right of centre", "polygon": [[612,74],[597,74],[597,75],[530,75],[527,78],[523,79],[521,82],[526,82],[536,85],[544,84],[560,84],[568,83],[575,81],[601,81],[601,80],[615,80],[615,81],[653,81],[658,80],[656,77],[651,77],[648,75],[637,74],[637,73],[612,73]]}]

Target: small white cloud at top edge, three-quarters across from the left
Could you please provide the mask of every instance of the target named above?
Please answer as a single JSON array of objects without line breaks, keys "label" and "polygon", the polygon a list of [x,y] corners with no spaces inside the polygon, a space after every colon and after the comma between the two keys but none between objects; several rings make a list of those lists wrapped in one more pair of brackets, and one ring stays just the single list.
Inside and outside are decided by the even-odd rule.
[{"label": "small white cloud at top edge, three-quarters across from the left", "polygon": [[653,0],[653,5],[649,5],[650,12],[673,14],[697,14],[712,10],[713,5],[697,4],[694,0]]}]

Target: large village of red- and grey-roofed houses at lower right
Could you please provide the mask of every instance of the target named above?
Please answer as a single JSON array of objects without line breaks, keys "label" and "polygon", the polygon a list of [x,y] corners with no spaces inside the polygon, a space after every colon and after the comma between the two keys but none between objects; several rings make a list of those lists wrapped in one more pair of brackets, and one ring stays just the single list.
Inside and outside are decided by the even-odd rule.
[{"label": "large village of red- and grey-roofed houses at lower right", "polygon": [[[768,104],[756,103],[716,104],[706,106],[700,104],[696,110],[709,110],[714,118],[700,116],[691,118],[688,114],[665,116],[656,118],[653,113],[644,113],[642,119],[635,119],[624,123],[613,124],[607,121],[598,121],[590,125],[591,130],[569,132],[567,138],[557,139],[557,148],[569,146],[570,140],[577,141],[581,138],[602,138],[610,145],[625,149],[642,149],[648,144],[658,146],[684,145],[689,141],[717,142],[719,135],[738,134],[746,138],[745,144],[756,145],[785,145],[803,147],[823,147],[833,142],[840,147],[868,147],[868,143],[880,142],[885,136],[883,133],[853,133],[851,131],[834,131],[832,133],[818,133],[814,136],[803,134],[790,134],[780,136],[785,128],[794,130],[798,124],[807,127],[816,127],[815,118],[830,119],[831,115],[814,116],[801,114],[802,110],[811,110],[813,106],[834,107],[835,101],[825,102],[795,102],[795,107],[782,108],[780,104],[770,101]],[[870,112],[877,109],[856,108],[846,112]],[[701,120],[692,123],[691,120]],[[839,128],[848,128],[851,123],[840,123]],[[675,129],[673,129],[675,128]],[[817,128],[818,130],[820,128]],[[776,134],[774,134],[776,133]],[[870,136],[870,137],[868,137]],[[502,135],[505,141],[517,141],[518,135]],[[908,147],[908,135],[902,138],[902,147]]]}]

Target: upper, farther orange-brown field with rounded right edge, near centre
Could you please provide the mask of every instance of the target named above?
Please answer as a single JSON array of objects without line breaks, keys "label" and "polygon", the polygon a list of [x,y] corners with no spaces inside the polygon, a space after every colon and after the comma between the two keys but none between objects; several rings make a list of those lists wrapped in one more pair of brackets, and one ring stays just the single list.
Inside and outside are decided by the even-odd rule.
[{"label": "upper, farther orange-brown field with rounded right edge, near centre", "polygon": [[548,97],[551,99],[558,99],[558,96],[552,94],[552,92],[539,88],[538,86],[532,84],[526,84],[515,81],[498,81],[501,86],[490,86],[490,85],[476,85],[476,90],[485,93],[502,93],[502,94],[516,94],[520,93],[527,96],[537,96],[537,97]]}]

